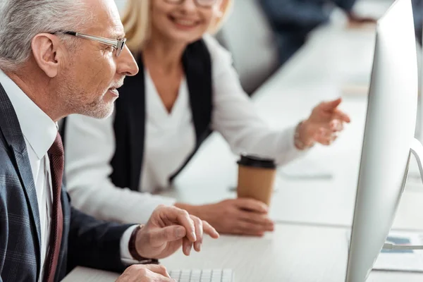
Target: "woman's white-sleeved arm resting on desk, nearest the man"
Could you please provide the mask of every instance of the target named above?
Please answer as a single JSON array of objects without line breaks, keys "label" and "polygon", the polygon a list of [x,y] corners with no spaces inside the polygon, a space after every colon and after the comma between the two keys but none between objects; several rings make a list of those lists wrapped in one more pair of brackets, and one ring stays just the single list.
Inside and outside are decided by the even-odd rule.
[{"label": "woman's white-sleeved arm resting on desk, nearest the man", "polygon": [[65,173],[72,204],[97,219],[141,222],[171,198],[116,187],[109,178],[115,152],[114,117],[104,120],[72,115],[66,121]]}]

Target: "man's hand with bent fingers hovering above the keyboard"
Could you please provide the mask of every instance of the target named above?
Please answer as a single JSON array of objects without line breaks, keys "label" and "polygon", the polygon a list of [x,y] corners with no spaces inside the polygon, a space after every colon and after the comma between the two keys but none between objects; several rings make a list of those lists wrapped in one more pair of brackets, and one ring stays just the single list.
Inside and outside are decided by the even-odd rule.
[{"label": "man's hand with bent fingers hovering above the keyboard", "polygon": [[219,233],[207,221],[191,216],[177,207],[159,206],[145,226],[137,233],[136,249],[141,257],[163,259],[183,246],[190,255],[192,245],[200,252],[203,234],[219,238]]}]

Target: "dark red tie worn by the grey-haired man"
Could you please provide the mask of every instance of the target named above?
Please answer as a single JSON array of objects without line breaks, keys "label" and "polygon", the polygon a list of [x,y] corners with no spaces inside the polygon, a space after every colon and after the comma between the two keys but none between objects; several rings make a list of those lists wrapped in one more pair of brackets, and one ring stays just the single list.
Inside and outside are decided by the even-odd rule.
[{"label": "dark red tie worn by the grey-haired man", "polygon": [[53,208],[51,210],[50,244],[49,253],[44,263],[46,269],[44,281],[53,282],[59,262],[59,250],[63,231],[63,212],[61,207],[61,183],[63,177],[63,144],[60,134],[57,133],[56,140],[49,149],[49,160],[51,170],[51,191],[53,192]]}]

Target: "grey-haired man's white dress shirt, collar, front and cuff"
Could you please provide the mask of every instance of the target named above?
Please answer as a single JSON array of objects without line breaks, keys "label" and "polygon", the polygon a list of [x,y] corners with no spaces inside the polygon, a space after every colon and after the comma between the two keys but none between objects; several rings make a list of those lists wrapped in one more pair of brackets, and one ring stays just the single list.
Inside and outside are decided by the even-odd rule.
[{"label": "grey-haired man's white dress shirt, collar, front and cuff", "polygon": [[[3,85],[8,98],[11,100],[13,109],[25,139],[28,158],[32,169],[32,177],[37,193],[39,223],[41,227],[41,272],[40,281],[44,277],[44,261],[47,256],[51,226],[51,174],[48,150],[53,145],[57,135],[57,125],[39,107],[20,90],[13,80],[0,70],[0,83]],[[121,257],[123,262],[132,263],[132,256],[128,250],[132,226],[128,228],[121,239]]]}]

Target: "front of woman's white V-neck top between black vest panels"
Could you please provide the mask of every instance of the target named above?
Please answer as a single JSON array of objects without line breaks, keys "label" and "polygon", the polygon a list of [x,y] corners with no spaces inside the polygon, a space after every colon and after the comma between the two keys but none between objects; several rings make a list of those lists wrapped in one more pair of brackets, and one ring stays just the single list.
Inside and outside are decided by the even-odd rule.
[{"label": "front of woman's white V-neck top between black vest panels", "polygon": [[195,149],[195,128],[186,79],[169,114],[147,70],[145,78],[147,118],[140,191],[157,192],[168,186],[169,176]]}]

